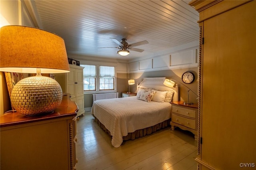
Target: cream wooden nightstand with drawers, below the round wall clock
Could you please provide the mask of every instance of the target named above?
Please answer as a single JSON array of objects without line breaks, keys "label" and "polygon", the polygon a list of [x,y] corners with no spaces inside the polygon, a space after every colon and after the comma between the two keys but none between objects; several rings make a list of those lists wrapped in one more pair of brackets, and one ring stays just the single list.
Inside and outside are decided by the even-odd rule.
[{"label": "cream wooden nightstand with drawers, below the round wall clock", "polygon": [[197,140],[197,112],[198,104],[184,105],[183,101],[174,101],[172,104],[171,129],[179,127],[192,132]]}]

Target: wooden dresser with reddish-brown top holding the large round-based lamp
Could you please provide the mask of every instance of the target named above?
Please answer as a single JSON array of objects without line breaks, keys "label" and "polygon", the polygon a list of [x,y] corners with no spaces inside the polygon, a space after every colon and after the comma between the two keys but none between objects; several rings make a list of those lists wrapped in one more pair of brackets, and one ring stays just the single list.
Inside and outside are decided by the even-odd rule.
[{"label": "wooden dresser with reddish-brown top holding the large round-based lamp", "polygon": [[65,95],[54,113],[28,117],[6,113],[0,117],[1,170],[76,169],[76,112]]}]

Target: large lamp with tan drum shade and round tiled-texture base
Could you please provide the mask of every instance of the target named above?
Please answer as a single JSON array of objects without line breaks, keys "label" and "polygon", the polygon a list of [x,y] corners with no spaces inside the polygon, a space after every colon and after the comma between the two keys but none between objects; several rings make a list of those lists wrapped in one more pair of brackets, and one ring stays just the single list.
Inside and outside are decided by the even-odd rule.
[{"label": "large lamp with tan drum shade and round tiled-texture base", "polygon": [[12,107],[23,115],[51,113],[62,101],[59,83],[41,73],[69,72],[64,40],[27,26],[4,26],[0,30],[0,71],[36,73],[20,80],[11,93]]}]

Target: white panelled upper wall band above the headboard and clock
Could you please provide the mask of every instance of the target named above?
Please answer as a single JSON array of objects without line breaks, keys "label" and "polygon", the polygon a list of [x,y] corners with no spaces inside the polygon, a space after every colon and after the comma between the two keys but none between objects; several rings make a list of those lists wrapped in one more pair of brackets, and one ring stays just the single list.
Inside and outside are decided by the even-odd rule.
[{"label": "white panelled upper wall band above the headboard and clock", "polygon": [[128,64],[129,73],[198,67],[199,42],[195,41],[160,51],[154,56],[133,59]]}]

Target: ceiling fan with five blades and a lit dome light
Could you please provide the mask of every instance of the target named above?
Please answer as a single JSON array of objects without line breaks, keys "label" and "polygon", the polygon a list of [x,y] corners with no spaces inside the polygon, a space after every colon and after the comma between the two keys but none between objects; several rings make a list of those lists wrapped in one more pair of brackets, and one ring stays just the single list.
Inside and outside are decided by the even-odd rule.
[{"label": "ceiling fan with five blades and a lit dome light", "polygon": [[120,50],[117,51],[117,53],[120,54],[120,55],[123,55],[123,56],[130,54],[130,51],[128,49],[130,49],[132,51],[137,51],[137,52],[140,52],[140,53],[143,52],[144,49],[138,49],[138,48],[134,48],[134,47],[139,46],[139,45],[144,45],[144,44],[148,43],[146,40],[144,40],[142,42],[136,42],[136,43],[128,44],[126,42],[125,38],[122,39],[122,42],[119,42],[115,38],[110,38],[110,39],[113,40],[115,43],[117,43],[119,46],[118,47],[99,47],[99,48],[118,48]]}]

